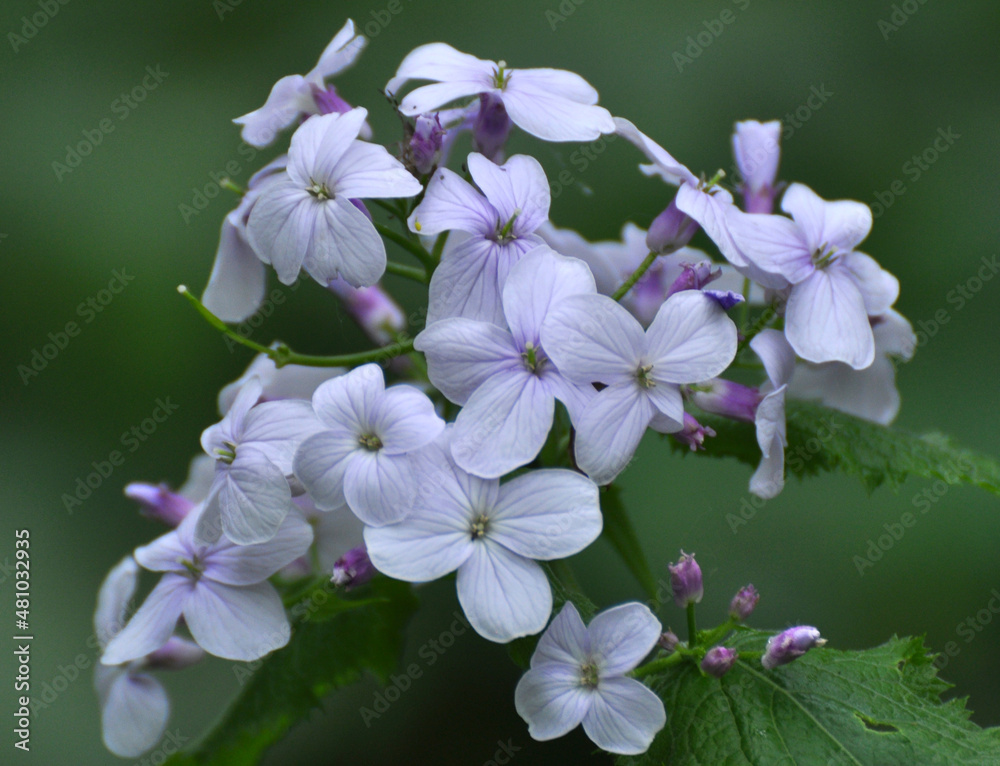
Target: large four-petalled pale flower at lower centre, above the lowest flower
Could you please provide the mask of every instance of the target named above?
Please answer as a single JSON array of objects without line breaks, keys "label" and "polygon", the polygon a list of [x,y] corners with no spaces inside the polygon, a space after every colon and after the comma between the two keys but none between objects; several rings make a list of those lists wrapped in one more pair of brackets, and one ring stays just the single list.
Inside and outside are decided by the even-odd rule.
[{"label": "large four-petalled pale flower at lower centre, above the lowest flower", "polygon": [[537,561],[571,556],[597,539],[597,486],[558,468],[504,484],[480,479],[451,458],[449,437],[442,434],[415,461],[410,515],[365,528],[368,555],[398,580],[429,582],[457,570],[459,603],[490,641],[538,633],[552,611],[552,590]]}]

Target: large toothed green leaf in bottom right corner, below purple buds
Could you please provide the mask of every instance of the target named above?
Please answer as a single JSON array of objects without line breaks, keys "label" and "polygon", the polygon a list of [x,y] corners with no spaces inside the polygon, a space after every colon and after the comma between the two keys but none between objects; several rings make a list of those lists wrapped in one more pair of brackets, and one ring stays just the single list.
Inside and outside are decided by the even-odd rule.
[{"label": "large toothed green leaf in bottom right corner, below purple buds", "polygon": [[[726,645],[760,651],[770,634],[741,630]],[[723,678],[690,662],[650,684],[667,726],[649,751],[618,766],[917,766],[1000,763],[1000,729],[969,721],[964,699],[941,701],[919,638],[866,651],[814,649],[773,671],[737,661]]]}]

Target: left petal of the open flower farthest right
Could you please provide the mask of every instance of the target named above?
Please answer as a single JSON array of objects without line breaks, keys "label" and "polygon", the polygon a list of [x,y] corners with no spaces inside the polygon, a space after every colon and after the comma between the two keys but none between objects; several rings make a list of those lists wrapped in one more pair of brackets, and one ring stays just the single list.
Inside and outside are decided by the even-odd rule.
[{"label": "left petal of the open flower farthest right", "polygon": [[813,251],[795,221],[783,215],[744,213],[733,207],[726,214],[726,224],[739,253],[764,271],[796,284],[816,270]]}]

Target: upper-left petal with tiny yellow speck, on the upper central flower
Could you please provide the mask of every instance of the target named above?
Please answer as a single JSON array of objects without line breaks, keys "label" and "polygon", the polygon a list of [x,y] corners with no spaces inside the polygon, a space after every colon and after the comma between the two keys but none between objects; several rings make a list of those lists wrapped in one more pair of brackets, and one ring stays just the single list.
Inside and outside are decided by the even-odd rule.
[{"label": "upper-left petal with tiny yellow speck, on the upper central flower", "polygon": [[410,231],[425,236],[457,229],[486,237],[496,231],[499,219],[496,209],[472,184],[447,168],[439,168],[407,224]]}]

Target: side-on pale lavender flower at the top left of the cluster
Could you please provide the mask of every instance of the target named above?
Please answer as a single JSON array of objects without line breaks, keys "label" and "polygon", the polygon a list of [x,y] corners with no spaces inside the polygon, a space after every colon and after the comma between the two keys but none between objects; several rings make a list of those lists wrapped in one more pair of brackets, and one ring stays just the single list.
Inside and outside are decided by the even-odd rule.
[{"label": "side-on pale lavender flower at the top left of the cluster", "polygon": [[328,114],[350,109],[343,99],[326,87],[326,79],[351,66],[368,41],[354,31],[350,19],[334,35],[307,74],[282,77],[274,84],[267,101],[233,122],[243,126],[243,140],[251,146],[265,147],[296,120],[311,114]]}]

